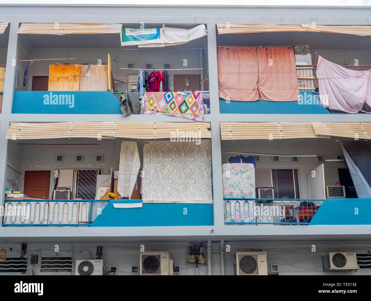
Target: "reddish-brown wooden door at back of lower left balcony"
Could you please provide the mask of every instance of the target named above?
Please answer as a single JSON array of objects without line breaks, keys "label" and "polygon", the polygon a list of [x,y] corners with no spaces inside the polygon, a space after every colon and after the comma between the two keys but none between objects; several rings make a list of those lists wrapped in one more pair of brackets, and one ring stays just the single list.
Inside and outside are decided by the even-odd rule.
[{"label": "reddish-brown wooden door at back of lower left balcony", "polygon": [[24,189],[25,196],[35,199],[49,199],[50,170],[25,171]]}]

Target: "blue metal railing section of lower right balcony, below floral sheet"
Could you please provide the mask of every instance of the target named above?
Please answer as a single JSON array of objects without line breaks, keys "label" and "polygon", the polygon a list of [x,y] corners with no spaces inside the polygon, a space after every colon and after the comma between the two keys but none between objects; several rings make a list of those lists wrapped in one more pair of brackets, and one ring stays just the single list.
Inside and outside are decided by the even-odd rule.
[{"label": "blue metal railing section of lower right balcony, below floral sheet", "polygon": [[226,225],[308,225],[324,200],[224,199]]}]

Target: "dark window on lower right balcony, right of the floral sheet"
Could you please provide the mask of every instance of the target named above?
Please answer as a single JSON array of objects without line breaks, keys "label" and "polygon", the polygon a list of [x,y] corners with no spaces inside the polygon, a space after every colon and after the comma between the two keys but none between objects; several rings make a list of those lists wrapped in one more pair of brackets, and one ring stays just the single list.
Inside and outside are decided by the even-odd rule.
[{"label": "dark window on lower right balcony, right of the floral sheet", "polygon": [[275,199],[300,199],[299,170],[272,169]]}]

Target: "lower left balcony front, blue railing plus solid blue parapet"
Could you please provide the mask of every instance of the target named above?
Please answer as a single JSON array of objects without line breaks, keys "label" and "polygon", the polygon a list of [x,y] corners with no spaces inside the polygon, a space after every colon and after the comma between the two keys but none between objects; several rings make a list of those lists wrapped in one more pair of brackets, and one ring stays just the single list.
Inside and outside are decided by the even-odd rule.
[{"label": "lower left balcony front, blue railing plus solid blue parapet", "polygon": [[[140,207],[139,207],[140,206]],[[185,215],[185,207],[192,212]],[[3,226],[208,226],[212,204],[152,204],[142,200],[5,200]]]}]

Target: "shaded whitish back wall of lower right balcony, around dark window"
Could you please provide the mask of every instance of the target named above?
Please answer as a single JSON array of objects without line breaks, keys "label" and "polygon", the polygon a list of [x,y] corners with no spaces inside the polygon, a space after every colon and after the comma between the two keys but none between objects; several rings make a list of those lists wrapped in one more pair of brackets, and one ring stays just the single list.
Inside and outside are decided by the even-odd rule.
[{"label": "shaded whitish back wall of lower right balcony, around dark window", "polygon": [[[241,151],[244,153],[283,154],[283,155],[324,155],[325,160],[334,160],[342,155],[339,142],[335,139],[286,139],[284,140],[234,140],[221,141],[223,151]],[[222,153],[222,164],[238,154]],[[246,155],[248,156],[248,155]],[[280,157],[280,162],[272,162],[272,156],[260,156],[256,163],[255,187],[272,186],[270,169],[299,169],[300,194],[302,199],[309,198],[308,173],[318,167],[316,157],[299,157],[298,163],[292,163],[290,157]],[[325,185],[335,185],[339,181],[338,168],[347,168],[344,162],[325,161]]]}]

